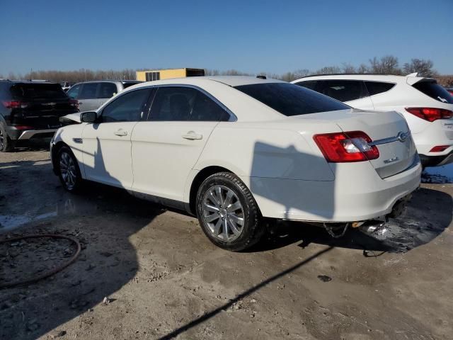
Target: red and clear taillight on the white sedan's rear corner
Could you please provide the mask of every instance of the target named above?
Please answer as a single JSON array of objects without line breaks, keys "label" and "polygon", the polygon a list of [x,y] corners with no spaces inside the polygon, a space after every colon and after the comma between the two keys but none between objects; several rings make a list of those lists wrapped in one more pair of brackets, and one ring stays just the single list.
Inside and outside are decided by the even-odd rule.
[{"label": "red and clear taillight on the white sedan's rear corner", "polygon": [[313,136],[327,162],[363,162],[379,158],[379,150],[362,131],[324,133]]}]

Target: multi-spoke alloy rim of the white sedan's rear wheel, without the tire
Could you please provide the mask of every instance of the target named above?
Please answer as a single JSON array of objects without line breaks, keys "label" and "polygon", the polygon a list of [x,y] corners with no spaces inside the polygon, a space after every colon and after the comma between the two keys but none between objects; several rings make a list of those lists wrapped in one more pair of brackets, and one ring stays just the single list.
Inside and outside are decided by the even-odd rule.
[{"label": "multi-spoke alloy rim of the white sedan's rear wheel, without the tire", "polygon": [[202,219],[212,236],[231,242],[241,236],[244,212],[236,193],[226,186],[212,186],[202,203]]}]

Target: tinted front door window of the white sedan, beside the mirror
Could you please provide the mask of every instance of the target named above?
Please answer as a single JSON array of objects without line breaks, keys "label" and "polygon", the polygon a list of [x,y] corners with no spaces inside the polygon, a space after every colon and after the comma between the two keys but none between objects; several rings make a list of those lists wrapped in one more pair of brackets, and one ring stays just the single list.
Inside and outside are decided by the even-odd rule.
[{"label": "tinted front door window of the white sedan, beside the mirror", "polygon": [[126,92],[115,101],[105,106],[102,111],[102,122],[137,122],[142,119],[144,104],[151,89]]}]

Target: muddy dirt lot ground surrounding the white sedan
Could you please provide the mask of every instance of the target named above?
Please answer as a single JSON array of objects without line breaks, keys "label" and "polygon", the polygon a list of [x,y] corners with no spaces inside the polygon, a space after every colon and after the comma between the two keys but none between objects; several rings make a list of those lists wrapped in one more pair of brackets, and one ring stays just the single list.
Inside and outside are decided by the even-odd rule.
[{"label": "muddy dirt lot ground surrounding the white sedan", "polygon": [[[452,193],[423,184],[383,234],[333,240],[273,223],[259,246],[231,253],[193,217],[120,190],[66,193],[40,145],[0,154],[0,240],[52,232],[82,245],[54,276],[0,289],[0,339],[453,339]],[[0,284],[74,251],[0,244]]]}]

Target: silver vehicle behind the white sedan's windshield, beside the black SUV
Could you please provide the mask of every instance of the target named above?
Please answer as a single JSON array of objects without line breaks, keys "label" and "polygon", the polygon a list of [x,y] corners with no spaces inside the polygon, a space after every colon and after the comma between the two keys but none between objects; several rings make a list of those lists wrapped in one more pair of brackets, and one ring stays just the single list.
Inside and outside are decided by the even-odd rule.
[{"label": "silver vehicle behind the white sedan's windshield, beside the black SUV", "polygon": [[67,91],[67,95],[79,101],[79,111],[93,111],[99,108],[108,98],[141,82],[137,80],[84,81],[74,84]]}]

